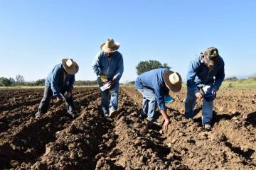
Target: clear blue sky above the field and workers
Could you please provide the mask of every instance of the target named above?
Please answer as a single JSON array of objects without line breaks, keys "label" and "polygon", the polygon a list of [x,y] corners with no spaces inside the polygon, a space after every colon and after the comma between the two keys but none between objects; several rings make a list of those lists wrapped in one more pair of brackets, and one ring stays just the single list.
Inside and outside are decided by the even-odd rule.
[{"label": "clear blue sky above the field and workers", "polygon": [[62,58],[76,79],[96,79],[91,63],[107,38],[120,42],[122,82],[142,60],[166,62],[186,79],[188,64],[218,47],[225,74],[256,73],[256,1],[0,0],[0,77],[43,79]]}]

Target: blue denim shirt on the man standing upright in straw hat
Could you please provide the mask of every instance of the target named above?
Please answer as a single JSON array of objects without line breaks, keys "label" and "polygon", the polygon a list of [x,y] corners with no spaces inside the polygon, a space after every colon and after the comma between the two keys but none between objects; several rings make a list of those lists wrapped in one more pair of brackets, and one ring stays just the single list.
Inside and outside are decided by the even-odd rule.
[{"label": "blue denim shirt on the man standing upright in straw hat", "polygon": [[124,63],[121,53],[115,51],[114,55],[109,59],[105,52],[100,51],[92,62],[92,69],[97,76],[103,73],[108,79],[112,79],[114,76],[118,75],[117,80],[119,81],[124,72]]}]

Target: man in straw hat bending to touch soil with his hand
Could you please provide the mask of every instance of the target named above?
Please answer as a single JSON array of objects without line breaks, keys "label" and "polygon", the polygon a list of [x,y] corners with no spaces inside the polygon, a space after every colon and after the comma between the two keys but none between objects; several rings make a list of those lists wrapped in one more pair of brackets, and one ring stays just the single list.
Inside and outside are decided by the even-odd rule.
[{"label": "man in straw hat bending to touch soil with his hand", "polygon": [[141,116],[159,125],[156,123],[156,106],[158,106],[164,118],[163,128],[167,130],[170,120],[166,114],[164,98],[169,96],[170,90],[180,91],[181,82],[180,74],[166,68],[152,69],[140,74],[135,81],[135,87],[143,96]]}]

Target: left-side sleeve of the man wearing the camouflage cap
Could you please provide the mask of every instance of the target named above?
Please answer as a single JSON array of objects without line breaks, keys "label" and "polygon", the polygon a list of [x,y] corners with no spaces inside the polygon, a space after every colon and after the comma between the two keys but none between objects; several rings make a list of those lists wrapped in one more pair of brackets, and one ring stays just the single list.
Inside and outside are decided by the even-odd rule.
[{"label": "left-side sleeve of the man wearing the camouflage cap", "polygon": [[195,77],[198,72],[198,68],[200,67],[200,60],[196,57],[195,60],[191,62],[188,67],[188,74],[187,74],[187,86],[194,94],[196,94],[199,90],[195,83]]}]

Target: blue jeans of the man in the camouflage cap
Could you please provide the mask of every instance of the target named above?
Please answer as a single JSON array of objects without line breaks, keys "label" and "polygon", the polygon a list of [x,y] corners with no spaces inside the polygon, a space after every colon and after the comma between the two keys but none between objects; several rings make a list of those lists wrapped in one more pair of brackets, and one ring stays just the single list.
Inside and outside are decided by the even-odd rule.
[{"label": "blue jeans of the man in the camouflage cap", "polygon": [[[194,113],[193,108],[196,105],[196,95],[187,87],[187,96],[185,101],[185,116],[186,118],[193,119]],[[202,124],[210,122],[213,118],[213,101],[206,101],[203,98],[203,114],[202,114]]]}]

